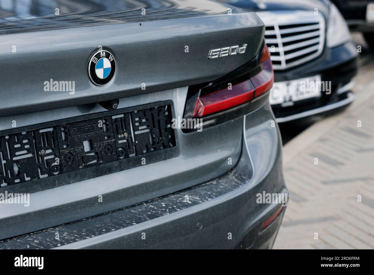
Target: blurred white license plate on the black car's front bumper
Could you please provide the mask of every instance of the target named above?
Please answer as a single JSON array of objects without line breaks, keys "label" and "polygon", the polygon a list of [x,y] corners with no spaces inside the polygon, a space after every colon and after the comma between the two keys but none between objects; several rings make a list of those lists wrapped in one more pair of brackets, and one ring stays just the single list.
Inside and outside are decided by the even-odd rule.
[{"label": "blurred white license plate on the black car's front bumper", "polygon": [[292,106],[295,101],[321,97],[321,76],[312,76],[297,80],[275,82],[270,90],[270,104]]}]

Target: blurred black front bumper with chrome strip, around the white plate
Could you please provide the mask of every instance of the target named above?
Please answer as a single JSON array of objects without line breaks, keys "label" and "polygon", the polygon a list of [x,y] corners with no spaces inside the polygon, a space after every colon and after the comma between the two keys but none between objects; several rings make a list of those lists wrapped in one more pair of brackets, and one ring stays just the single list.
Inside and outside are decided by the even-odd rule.
[{"label": "blurred black front bumper with chrome strip, around the white plate", "polygon": [[293,106],[272,105],[278,123],[321,114],[350,104],[355,95],[351,91],[353,77],[357,73],[357,48],[349,41],[343,45],[326,48],[319,58],[286,71],[275,71],[275,82],[312,76],[321,76],[322,82],[330,82],[331,90],[322,91],[321,97],[296,101]]}]

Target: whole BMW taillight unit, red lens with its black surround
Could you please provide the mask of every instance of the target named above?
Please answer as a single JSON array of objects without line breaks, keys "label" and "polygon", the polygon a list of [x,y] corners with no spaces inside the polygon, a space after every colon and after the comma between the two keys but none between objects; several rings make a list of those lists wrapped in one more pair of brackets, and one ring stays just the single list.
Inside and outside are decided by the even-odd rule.
[{"label": "whole BMW taillight unit, red lens with its black surround", "polygon": [[212,83],[190,86],[184,117],[202,118],[203,126],[210,126],[244,115],[267,101],[273,82],[270,52],[263,43],[257,56],[237,70]]}]

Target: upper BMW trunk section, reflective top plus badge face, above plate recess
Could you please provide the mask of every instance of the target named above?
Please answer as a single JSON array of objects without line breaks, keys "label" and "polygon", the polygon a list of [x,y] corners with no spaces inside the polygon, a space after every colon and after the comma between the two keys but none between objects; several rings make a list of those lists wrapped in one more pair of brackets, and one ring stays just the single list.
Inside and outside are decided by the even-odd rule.
[{"label": "upper BMW trunk section, reflective top plus badge face, above plate recess", "polygon": [[[0,13],[0,116],[212,81],[251,59],[263,35],[254,13],[211,1],[67,1],[59,7],[38,1],[28,7]],[[243,54],[208,59],[211,49],[245,44]],[[101,49],[116,61],[104,86],[88,74]]]}]

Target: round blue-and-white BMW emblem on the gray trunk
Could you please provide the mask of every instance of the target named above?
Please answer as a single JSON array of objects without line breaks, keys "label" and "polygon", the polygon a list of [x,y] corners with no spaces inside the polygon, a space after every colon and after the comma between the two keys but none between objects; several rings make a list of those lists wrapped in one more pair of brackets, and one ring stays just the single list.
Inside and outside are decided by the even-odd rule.
[{"label": "round blue-and-white BMW emblem on the gray trunk", "polygon": [[92,55],[88,64],[88,75],[93,83],[102,86],[107,84],[116,71],[116,61],[108,51],[98,51]]}]

